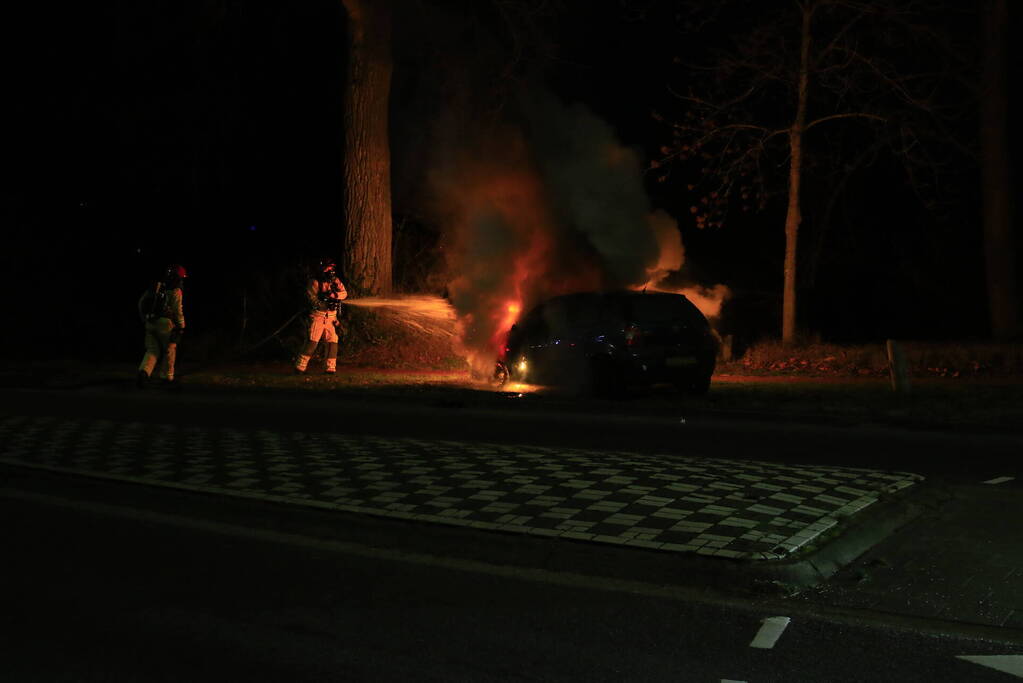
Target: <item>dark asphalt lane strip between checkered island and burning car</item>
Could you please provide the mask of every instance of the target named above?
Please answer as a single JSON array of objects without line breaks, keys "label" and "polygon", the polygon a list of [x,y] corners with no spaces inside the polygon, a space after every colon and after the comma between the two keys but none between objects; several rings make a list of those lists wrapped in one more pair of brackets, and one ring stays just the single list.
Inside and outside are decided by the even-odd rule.
[{"label": "dark asphalt lane strip between checkered island and burning car", "polygon": [[137,392],[127,384],[48,392],[0,390],[0,409],[69,415],[748,458],[915,471],[972,484],[1015,469],[1023,438],[805,423],[756,415],[682,413],[671,400],[597,401],[483,392]]}]

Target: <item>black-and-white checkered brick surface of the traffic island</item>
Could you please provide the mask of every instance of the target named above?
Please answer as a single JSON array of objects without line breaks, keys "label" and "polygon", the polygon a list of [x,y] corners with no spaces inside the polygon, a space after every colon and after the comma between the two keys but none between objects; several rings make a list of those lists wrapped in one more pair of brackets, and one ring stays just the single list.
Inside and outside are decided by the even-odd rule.
[{"label": "black-and-white checkered brick surface of the traffic island", "polygon": [[598,543],[779,559],[907,472],[114,420],[0,418],[0,461]]}]

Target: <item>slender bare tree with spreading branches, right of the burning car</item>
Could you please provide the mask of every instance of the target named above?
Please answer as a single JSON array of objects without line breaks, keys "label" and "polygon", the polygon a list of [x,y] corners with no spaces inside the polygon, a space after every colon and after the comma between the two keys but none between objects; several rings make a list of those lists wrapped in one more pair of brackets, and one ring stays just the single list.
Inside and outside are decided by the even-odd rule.
[{"label": "slender bare tree with spreading branches, right of the burning car", "polygon": [[[932,0],[748,3],[743,9],[763,7],[765,20],[741,14],[738,22],[738,14],[723,9],[733,4],[684,3],[690,11],[680,12],[680,20],[687,26],[726,30],[716,19],[731,17],[735,31],[727,32],[730,49],[718,50],[709,63],[676,57],[685,86],[668,88],[680,111],[666,122],[671,142],[659,168],[671,164],[693,176],[686,187],[698,227],[721,226],[735,208],[788,200],[788,316],[795,308],[788,304],[795,300],[789,295],[789,274],[796,270],[790,247],[802,220],[802,175],[840,167],[844,176],[835,191],[844,192],[855,169],[884,150],[886,158],[902,162],[922,200],[939,192],[951,155],[967,151],[950,135],[950,122],[963,116],[962,98],[950,91],[962,85],[952,77],[966,60],[945,49],[935,16],[948,9]],[[714,21],[701,19],[701,10]],[[854,122],[873,125],[848,125]],[[804,138],[811,129],[818,132]],[[829,155],[822,145],[843,156]],[[861,153],[864,147],[870,153]],[[812,201],[813,210],[821,208],[816,197]],[[834,201],[824,203],[828,214]],[[790,323],[785,317],[786,338]]]}]

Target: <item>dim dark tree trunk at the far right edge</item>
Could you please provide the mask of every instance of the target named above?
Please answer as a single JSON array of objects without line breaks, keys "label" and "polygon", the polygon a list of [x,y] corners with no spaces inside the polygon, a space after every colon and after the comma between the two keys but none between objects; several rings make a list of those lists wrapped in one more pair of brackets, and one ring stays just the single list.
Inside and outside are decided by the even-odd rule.
[{"label": "dim dark tree trunk at the far right edge", "polygon": [[984,259],[991,335],[1005,342],[1019,333],[1016,292],[1016,244],[1012,225],[1009,143],[1006,130],[1006,0],[986,0],[983,7],[984,92],[981,144]]}]

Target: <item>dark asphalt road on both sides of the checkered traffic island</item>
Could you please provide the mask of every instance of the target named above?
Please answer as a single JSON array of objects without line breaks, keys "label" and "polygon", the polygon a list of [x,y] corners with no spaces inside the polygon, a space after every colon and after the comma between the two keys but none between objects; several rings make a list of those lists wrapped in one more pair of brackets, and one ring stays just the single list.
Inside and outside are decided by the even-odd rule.
[{"label": "dark asphalt road on both sides of the checkered traffic island", "polygon": [[[25,415],[885,466],[949,482],[1005,473],[1018,453],[1000,438],[683,422],[667,408],[580,412],[510,398],[108,388],[0,399]],[[1023,651],[1014,631],[720,594],[672,581],[670,559],[636,550],[19,467],[0,476],[3,680],[998,681],[1012,678],[960,657]]]}]

